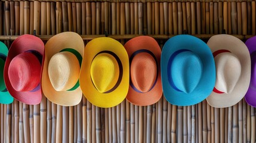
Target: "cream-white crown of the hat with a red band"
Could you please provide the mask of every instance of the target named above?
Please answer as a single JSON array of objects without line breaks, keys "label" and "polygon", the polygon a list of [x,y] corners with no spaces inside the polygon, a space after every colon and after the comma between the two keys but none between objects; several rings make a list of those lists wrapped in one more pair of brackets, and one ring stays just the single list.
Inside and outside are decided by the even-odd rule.
[{"label": "cream-white crown of the hat with a red band", "polygon": [[214,59],[217,74],[215,88],[229,94],[235,88],[242,71],[239,58],[231,52],[223,52]]}]

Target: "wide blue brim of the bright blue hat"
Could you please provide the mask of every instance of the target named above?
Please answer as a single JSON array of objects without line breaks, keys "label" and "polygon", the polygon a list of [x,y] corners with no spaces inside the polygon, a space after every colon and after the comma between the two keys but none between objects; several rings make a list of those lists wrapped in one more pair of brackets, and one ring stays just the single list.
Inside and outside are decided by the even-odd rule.
[{"label": "wide blue brim of the bright blue hat", "polygon": [[[202,76],[196,88],[189,94],[174,89],[168,80],[168,61],[175,51],[188,49],[197,54],[202,61]],[[191,73],[194,74],[194,73]],[[164,96],[174,105],[194,105],[205,100],[215,85],[215,64],[212,52],[201,39],[190,35],[170,38],[164,45],[161,55],[161,76]]]}]

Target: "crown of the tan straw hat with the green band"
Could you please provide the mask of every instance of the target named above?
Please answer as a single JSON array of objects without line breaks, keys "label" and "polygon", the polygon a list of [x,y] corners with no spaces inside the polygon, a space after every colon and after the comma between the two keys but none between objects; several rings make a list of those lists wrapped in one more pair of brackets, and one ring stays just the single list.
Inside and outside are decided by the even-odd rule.
[{"label": "crown of the tan straw hat with the green band", "polygon": [[80,66],[72,52],[58,52],[49,61],[48,74],[55,91],[67,91],[78,81]]}]

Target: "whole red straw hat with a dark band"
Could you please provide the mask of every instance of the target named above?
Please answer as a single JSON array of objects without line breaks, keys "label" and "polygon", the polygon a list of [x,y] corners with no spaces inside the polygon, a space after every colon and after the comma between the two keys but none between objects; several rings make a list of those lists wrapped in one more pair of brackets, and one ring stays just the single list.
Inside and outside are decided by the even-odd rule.
[{"label": "whole red straw hat with a dark band", "polygon": [[33,35],[19,36],[11,44],[4,67],[10,94],[25,104],[39,104],[42,98],[41,69],[44,43]]}]

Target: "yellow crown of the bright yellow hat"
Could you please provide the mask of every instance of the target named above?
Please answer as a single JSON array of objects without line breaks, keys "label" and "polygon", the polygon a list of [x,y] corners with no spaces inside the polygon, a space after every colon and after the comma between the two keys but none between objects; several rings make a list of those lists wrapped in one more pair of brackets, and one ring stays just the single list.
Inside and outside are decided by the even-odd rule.
[{"label": "yellow crown of the bright yellow hat", "polygon": [[101,53],[91,63],[91,79],[100,93],[110,91],[118,82],[118,61],[111,54]]}]

